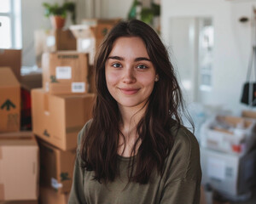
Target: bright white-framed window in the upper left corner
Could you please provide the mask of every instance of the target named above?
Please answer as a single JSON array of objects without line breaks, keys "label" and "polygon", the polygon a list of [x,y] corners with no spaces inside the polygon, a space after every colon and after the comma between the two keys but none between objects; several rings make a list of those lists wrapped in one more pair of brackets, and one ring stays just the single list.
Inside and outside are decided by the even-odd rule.
[{"label": "bright white-framed window in the upper left corner", "polygon": [[21,48],[20,0],[1,0],[0,48]]}]

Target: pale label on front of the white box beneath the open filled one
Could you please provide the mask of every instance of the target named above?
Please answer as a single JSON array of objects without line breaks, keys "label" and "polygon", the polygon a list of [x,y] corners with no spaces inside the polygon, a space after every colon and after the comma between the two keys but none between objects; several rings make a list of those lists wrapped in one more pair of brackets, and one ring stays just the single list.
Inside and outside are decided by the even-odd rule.
[{"label": "pale label on front of the white box beneath the open filled one", "polygon": [[224,180],[225,178],[225,162],[216,158],[208,159],[207,173],[210,178]]}]

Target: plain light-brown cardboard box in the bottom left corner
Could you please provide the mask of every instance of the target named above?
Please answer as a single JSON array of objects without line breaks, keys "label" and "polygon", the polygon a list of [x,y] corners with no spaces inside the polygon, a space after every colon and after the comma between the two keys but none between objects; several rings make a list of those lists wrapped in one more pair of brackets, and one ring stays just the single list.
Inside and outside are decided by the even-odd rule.
[{"label": "plain light-brown cardboard box in the bottom left corner", "polygon": [[38,144],[32,132],[0,135],[0,201],[38,199]]}]

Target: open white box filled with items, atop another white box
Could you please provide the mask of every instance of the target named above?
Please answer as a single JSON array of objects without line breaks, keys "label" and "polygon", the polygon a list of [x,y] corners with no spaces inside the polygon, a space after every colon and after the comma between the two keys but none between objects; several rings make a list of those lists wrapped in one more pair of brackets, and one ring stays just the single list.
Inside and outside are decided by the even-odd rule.
[{"label": "open white box filled with items, atop another white box", "polygon": [[201,146],[232,154],[246,154],[256,143],[256,121],[216,116],[201,126]]}]

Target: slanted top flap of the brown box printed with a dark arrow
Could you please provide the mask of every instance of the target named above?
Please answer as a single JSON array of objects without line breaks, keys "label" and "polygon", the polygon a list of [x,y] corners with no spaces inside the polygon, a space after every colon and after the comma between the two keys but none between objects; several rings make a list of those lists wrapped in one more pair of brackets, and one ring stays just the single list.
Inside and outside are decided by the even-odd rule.
[{"label": "slanted top flap of the brown box printed with a dark arrow", "polygon": [[0,69],[0,88],[1,87],[14,87],[20,86],[15,77],[14,72],[9,67],[1,67]]}]

